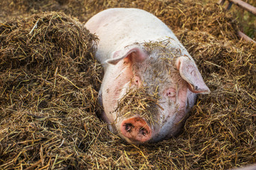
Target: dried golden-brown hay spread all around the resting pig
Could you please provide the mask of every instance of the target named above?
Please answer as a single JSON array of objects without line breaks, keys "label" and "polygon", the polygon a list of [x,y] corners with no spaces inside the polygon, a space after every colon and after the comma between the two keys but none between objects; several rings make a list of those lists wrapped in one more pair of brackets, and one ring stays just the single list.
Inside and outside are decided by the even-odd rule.
[{"label": "dried golden-brown hay spread all around the resting pig", "polygon": [[[238,39],[238,23],[218,4],[190,0],[51,3],[80,21],[110,7],[154,13],[173,28],[196,60],[211,94],[198,97],[178,137],[128,145],[95,115],[100,67],[90,55],[92,35],[63,13],[9,21],[0,28],[1,169],[229,169],[256,162],[256,47]],[[79,7],[86,11],[84,18],[75,13]],[[35,12],[29,8],[24,15]],[[63,19],[55,23],[50,18]],[[29,35],[37,21],[42,25]],[[55,30],[39,31],[43,29],[39,26]],[[64,36],[73,26],[78,28]],[[65,42],[67,38],[75,39]]]}]

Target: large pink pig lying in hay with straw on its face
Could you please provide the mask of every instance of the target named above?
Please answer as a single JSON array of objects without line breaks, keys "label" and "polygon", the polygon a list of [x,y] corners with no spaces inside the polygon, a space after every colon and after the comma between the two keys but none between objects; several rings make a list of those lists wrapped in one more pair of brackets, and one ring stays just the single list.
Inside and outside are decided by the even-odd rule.
[{"label": "large pink pig lying in hay with straw on its face", "polygon": [[[209,94],[191,55],[171,29],[139,8],[109,8],[92,16],[85,28],[98,36],[96,59],[105,73],[99,92],[101,118],[132,144],[159,142],[182,128],[197,94]],[[154,123],[142,115],[120,115],[120,99],[129,89],[149,86],[159,95],[151,105]],[[154,109],[153,109],[154,108]]]}]

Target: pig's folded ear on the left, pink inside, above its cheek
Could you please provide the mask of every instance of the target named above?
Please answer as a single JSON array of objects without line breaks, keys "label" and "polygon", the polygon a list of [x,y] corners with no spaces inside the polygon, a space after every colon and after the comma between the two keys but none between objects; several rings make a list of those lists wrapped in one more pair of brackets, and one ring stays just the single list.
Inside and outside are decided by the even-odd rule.
[{"label": "pig's folded ear on the left, pink inside, above its cheek", "polygon": [[125,62],[143,62],[146,59],[146,56],[146,53],[141,47],[132,47],[112,52],[112,58],[106,62],[109,64],[117,64],[121,60],[124,60]]}]

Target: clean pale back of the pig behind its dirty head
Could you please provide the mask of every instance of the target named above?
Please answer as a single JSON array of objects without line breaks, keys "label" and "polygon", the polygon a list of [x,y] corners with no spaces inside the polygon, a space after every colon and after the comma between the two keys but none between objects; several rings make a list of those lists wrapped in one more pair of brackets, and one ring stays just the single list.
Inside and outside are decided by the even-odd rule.
[{"label": "clean pale back of the pig behind its dirty head", "polygon": [[90,18],[85,27],[100,39],[96,58],[101,63],[110,59],[114,51],[123,50],[127,45],[161,41],[166,38],[171,38],[173,47],[188,55],[170,28],[159,18],[142,9],[109,8]]}]

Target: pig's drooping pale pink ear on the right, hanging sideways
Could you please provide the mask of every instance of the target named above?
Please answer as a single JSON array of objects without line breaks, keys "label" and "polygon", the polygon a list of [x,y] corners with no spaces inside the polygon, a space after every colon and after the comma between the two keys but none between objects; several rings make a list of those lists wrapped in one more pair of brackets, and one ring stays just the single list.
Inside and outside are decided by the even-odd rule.
[{"label": "pig's drooping pale pink ear on the right, hanging sideways", "polygon": [[189,84],[188,89],[196,94],[209,94],[210,89],[206,86],[203,78],[196,67],[195,62],[188,57],[178,57],[176,68],[181,77]]}]

